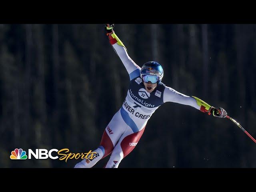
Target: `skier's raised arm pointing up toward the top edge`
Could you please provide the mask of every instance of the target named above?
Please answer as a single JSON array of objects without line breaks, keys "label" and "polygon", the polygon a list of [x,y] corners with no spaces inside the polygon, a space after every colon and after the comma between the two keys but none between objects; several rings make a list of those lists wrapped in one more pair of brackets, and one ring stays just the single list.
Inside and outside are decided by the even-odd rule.
[{"label": "skier's raised arm pointing up toward the top edge", "polygon": [[116,51],[116,54],[121,59],[122,63],[124,64],[129,76],[130,80],[134,79],[135,77],[140,75],[140,67],[136,65],[136,63],[129,57],[126,47],[120,41],[118,36],[115,34],[114,24],[106,24],[105,30],[108,36],[109,42]]}]

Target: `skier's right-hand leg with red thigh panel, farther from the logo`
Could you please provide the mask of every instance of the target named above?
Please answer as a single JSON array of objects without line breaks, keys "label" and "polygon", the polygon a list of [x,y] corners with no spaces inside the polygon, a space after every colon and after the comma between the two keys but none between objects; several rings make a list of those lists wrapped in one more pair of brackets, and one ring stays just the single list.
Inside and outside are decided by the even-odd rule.
[{"label": "skier's right-hand leg with red thigh panel, farther from the logo", "polygon": [[106,168],[118,168],[119,163],[123,158],[125,158],[137,145],[140,140],[145,127],[134,133],[131,128],[127,128],[124,134],[121,136],[120,140],[114,147],[110,159],[106,164]]}]

